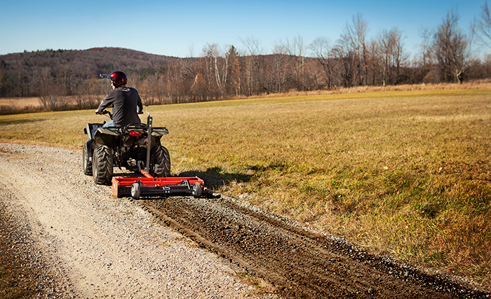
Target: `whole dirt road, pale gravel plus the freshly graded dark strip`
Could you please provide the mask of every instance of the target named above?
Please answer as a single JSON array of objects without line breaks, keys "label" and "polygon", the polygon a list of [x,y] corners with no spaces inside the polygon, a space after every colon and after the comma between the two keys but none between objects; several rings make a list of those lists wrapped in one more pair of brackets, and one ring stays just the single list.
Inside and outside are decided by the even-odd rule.
[{"label": "whole dirt road, pale gravel plus the freshly graded dark strip", "polygon": [[[0,144],[0,202],[65,284],[60,296],[489,298],[233,198],[114,198],[83,175],[80,160]],[[257,289],[237,272],[272,286]]]}]

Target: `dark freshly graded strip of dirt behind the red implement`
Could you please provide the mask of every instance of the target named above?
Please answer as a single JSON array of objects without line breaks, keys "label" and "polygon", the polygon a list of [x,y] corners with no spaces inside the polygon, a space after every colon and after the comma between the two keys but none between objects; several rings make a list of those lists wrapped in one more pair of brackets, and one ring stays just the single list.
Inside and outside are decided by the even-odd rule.
[{"label": "dark freshly graded strip of dirt behind the red implement", "polygon": [[201,246],[267,279],[286,298],[488,298],[233,198],[140,203]]}]

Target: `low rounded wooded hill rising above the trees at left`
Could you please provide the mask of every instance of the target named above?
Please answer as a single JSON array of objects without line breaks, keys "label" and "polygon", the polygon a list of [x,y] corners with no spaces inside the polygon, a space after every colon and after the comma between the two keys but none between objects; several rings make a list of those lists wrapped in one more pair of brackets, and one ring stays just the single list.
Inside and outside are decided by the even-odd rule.
[{"label": "low rounded wooded hill rising above the trees at left", "polygon": [[4,75],[20,73],[29,77],[48,67],[64,73],[69,71],[77,77],[90,78],[116,69],[147,69],[152,63],[173,59],[175,58],[125,48],[48,49],[0,55],[0,67]]}]

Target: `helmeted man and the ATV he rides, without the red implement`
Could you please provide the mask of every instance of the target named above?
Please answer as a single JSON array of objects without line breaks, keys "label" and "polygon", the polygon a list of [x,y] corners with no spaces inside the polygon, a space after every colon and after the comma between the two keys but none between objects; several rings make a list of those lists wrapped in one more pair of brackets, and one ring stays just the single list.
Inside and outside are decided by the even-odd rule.
[{"label": "helmeted man and the ATV he rides, without the red implement", "polygon": [[[126,74],[114,71],[108,77],[112,90],[102,100],[97,114],[109,114],[108,123],[88,123],[83,130],[88,140],[83,144],[83,173],[92,175],[95,183],[109,185],[113,168],[121,167],[140,172],[146,167],[156,177],[170,176],[170,156],[161,145],[161,137],[168,134],[166,127],[153,127],[149,115],[147,124],[141,123],[142,99],[135,88],[127,88]],[[112,105],[113,113],[105,108]]]}]

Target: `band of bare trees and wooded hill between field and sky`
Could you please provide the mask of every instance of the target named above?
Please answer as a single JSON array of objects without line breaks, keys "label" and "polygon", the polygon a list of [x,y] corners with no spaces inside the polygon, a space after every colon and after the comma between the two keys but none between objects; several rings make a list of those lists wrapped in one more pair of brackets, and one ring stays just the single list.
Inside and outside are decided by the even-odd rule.
[{"label": "band of bare trees and wooded hill between field and sky", "polygon": [[[302,36],[274,44],[264,54],[253,37],[243,48],[207,44],[199,57],[167,57],[122,48],[43,50],[0,56],[0,97],[39,97],[46,110],[97,106],[109,90],[107,77],[119,69],[146,104],[202,102],[290,90],[333,90],[363,85],[462,83],[489,78],[491,57],[477,58],[474,40],[490,46],[487,2],[471,32],[458,26],[457,10],[438,27],[421,29],[414,59],[397,27],[368,39],[368,22],[354,15],[332,42]],[[71,105],[71,107],[69,107]]]}]

